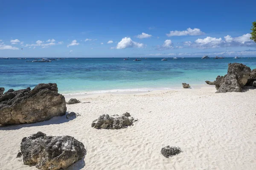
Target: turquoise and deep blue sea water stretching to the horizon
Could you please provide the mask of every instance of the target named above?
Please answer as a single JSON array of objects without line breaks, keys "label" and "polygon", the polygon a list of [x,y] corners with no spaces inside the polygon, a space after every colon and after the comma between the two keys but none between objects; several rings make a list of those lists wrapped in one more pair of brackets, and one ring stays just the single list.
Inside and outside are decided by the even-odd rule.
[{"label": "turquoise and deep blue sea water stretching to the horizon", "polygon": [[[256,68],[254,59],[185,58],[161,61],[162,58],[67,58],[52,62],[25,62],[23,59],[0,59],[0,87],[15,90],[55,82],[63,94],[91,91],[140,91],[205,84],[227,73],[227,64],[241,62]],[[30,59],[32,60],[32,59]]]}]

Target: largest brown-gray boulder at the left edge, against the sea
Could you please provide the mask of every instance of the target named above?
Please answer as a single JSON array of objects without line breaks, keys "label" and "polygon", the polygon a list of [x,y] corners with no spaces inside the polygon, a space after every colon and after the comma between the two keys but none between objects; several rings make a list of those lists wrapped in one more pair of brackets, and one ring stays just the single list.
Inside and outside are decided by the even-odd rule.
[{"label": "largest brown-gray boulder at the left edge, against the sea", "polygon": [[35,123],[66,114],[65,98],[58,94],[55,83],[38,84],[0,96],[0,124]]}]

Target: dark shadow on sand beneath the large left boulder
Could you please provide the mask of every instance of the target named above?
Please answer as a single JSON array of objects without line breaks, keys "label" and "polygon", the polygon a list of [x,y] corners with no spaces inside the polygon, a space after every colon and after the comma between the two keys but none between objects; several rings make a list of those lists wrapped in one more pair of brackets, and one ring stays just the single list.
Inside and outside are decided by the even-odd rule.
[{"label": "dark shadow on sand beneath the large left boulder", "polygon": [[[67,115],[67,113],[69,113],[69,112],[66,112],[66,115]],[[26,124],[20,124],[20,125],[0,125],[0,130],[18,130],[23,127],[56,125],[56,124],[66,123],[66,122],[69,122],[69,121],[75,119],[75,117],[67,119],[66,115],[53,117],[52,119],[49,119],[49,120],[46,120],[43,122],[37,122],[37,123],[26,123]]]}]

